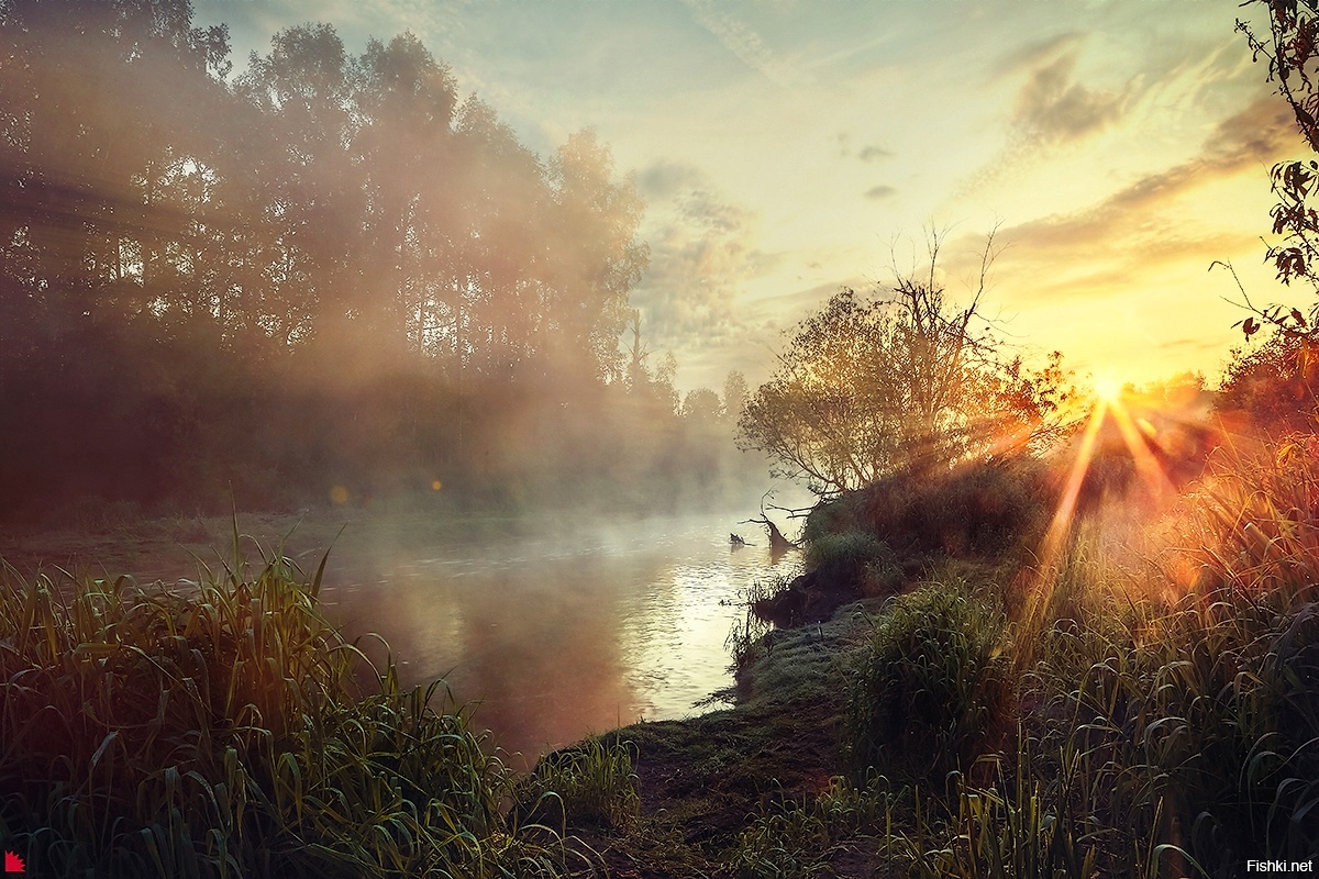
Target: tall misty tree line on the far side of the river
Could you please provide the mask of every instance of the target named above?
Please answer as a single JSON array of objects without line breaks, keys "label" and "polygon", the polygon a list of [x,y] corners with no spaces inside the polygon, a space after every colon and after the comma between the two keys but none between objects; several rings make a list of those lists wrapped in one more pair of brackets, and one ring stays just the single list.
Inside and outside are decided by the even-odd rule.
[{"label": "tall misty tree line on the far side of the river", "polygon": [[0,58],[5,513],[725,464],[723,401],[683,407],[640,318],[620,348],[642,200],[594,133],[537,156],[406,33],[288,28],[236,74],[181,0],[0,0]]}]

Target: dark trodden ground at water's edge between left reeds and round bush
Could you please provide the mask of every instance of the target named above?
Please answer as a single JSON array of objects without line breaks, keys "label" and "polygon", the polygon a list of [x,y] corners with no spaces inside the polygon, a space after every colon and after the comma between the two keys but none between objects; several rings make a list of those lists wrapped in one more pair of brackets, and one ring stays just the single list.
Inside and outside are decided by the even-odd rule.
[{"label": "dark trodden ground at water's edge between left reeds and round bush", "polygon": [[[574,828],[609,875],[898,875],[869,828],[795,828],[805,833],[794,838],[794,828],[769,826],[839,789],[847,679],[881,605],[853,602],[827,622],[749,644],[733,708],[609,733],[607,742],[637,755],[640,817],[621,833]],[[777,851],[760,851],[766,846]]]}]

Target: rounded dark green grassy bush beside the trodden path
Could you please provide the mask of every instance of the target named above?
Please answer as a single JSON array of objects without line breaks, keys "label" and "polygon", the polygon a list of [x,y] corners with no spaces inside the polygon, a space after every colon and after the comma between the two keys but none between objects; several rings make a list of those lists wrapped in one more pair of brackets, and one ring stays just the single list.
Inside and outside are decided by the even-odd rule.
[{"label": "rounded dark green grassy bush beside the trodden path", "polygon": [[927,584],[893,600],[851,681],[844,742],[868,770],[915,780],[966,768],[1005,701],[1000,611]]}]

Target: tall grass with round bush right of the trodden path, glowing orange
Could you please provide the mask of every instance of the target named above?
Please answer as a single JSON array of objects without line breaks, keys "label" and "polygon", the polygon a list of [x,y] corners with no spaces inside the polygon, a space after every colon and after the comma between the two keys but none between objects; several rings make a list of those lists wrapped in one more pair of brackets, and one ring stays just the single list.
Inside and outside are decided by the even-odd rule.
[{"label": "tall grass with round bush right of the trodden path, glowing orange", "polygon": [[[857,767],[915,783],[888,837],[911,875],[1237,876],[1319,851],[1319,444],[1221,449],[1149,531],[1177,543],[1078,528],[1006,626],[938,586],[878,621],[847,733]],[[993,631],[1001,742],[975,709]]]}]

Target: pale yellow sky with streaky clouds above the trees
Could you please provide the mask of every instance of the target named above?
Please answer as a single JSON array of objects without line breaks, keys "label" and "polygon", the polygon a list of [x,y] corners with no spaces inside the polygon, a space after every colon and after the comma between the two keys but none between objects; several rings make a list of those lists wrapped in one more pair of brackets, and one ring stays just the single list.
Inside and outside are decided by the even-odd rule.
[{"label": "pale yellow sky with streaky clouds above the trees", "polygon": [[[1240,344],[1269,167],[1304,148],[1235,0],[195,0],[235,72],[277,30],[410,30],[547,157],[591,128],[646,200],[633,291],[682,389],[754,386],[843,286],[927,262],[1029,357],[1145,382]],[[1256,20],[1260,14],[1253,13]],[[969,285],[969,286],[968,286]]]}]

